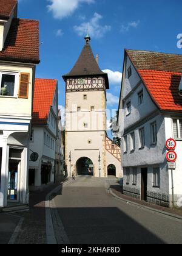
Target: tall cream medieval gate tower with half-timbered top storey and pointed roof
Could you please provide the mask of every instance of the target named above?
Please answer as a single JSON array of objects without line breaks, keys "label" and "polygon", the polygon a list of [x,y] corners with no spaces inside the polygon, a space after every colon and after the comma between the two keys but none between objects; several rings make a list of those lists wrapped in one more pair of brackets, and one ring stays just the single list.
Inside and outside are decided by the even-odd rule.
[{"label": "tall cream medieval gate tower with half-timbered top storey and pointed roof", "polygon": [[93,56],[90,37],[66,82],[66,166],[67,174],[107,177],[107,167],[115,165],[121,177],[120,148],[106,134],[106,90],[109,80]]}]

